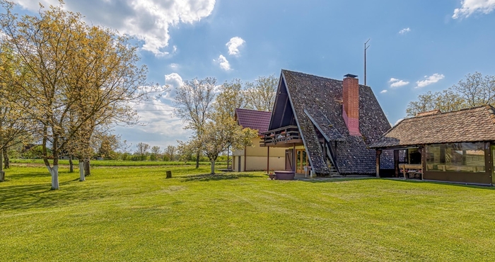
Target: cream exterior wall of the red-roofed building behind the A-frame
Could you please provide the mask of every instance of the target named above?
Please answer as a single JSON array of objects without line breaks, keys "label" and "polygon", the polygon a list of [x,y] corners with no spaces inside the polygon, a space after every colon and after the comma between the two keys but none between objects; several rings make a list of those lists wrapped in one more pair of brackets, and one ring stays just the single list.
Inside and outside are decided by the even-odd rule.
[{"label": "cream exterior wall of the red-roofed building behind the A-frame", "polygon": [[[262,171],[267,169],[267,147],[260,147],[260,142],[260,137],[253,138],[254,147],[233,151],[233,171]],[[284,170],[285,148],[270,147],[269,154],[269,169]]]}]

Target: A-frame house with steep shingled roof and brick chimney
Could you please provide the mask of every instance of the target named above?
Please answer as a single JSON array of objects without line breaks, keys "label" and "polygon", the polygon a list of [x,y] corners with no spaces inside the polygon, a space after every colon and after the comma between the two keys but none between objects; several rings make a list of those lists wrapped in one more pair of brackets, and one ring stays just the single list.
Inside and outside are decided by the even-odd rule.
[{"label": "A-frame house with steep shingled roof and brick chimney", "polygon": [[[375,150],[390,129],[371,87],[355,75],[328,79],[282,70],[265,147],[285,149],[286,171],[375,175]],[[392,159],[383,157],[383,164]]]}]

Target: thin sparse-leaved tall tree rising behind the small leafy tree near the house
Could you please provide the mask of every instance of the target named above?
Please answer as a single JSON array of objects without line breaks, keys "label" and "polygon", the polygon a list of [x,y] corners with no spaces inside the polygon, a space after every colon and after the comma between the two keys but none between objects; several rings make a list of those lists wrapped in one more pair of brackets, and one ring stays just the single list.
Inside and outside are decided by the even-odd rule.
[{"label": "thin sparse-leaved tall tree rising behind the small leafy tree near the house", "polygon": [[[202,136],[202,130],[211,113],[211,103],[215,99],[216,79],[192,79],[176,90],[174,101],[175,115],[181,118],[186,129],[194,132],[195,137]],[[199,168],[199,148],[196,153],[196,168]]]}]

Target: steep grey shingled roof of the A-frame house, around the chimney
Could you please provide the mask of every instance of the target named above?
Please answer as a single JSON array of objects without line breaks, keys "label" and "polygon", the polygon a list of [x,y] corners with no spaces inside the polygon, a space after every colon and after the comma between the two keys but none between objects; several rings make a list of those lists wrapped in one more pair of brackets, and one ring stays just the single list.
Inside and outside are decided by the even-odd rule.
[{"label": "steep grey shingled roof of the A-frame house, around the chimney", "polygon": [[369,86],[359,85],[359,129],[349,135],[342,118],[342,81],[282,70],[306,151],[316,173],[330,173],[318,142],[315,126],[337,141],[337,166],[341,173],[375,173],[375,150],[368,144],[390,129],[385,114]]}]

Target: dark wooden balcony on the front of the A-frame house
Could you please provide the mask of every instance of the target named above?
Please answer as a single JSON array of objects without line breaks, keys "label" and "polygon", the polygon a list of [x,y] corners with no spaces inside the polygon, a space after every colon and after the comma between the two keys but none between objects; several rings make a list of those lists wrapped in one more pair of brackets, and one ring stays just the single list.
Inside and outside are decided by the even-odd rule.
[{"label": "dark wooden balcony on the front of the A-frame house", "polygon": [[301,134],[296,125],[288,125],[264,132],[261,147],[292,147],[303,144]]}]

